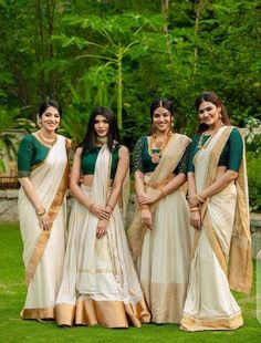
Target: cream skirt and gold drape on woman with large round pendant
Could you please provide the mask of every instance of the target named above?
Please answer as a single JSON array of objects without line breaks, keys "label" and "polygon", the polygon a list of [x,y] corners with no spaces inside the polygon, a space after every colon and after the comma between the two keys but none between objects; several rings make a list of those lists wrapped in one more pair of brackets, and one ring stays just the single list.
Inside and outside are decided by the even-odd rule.
[{"label": "cream skirt and gold drape on woman with large round pendant", "polygon": [[[190,139],[175,134],[147,184],[164,185],[177,167]],[[182,314],[190,267],[191,227],[181,189],[153,205],[153,230],[142,225],[139,207],[128,229],[128,241],[137,261],[139,281],[155,323],[179,323]]]}]

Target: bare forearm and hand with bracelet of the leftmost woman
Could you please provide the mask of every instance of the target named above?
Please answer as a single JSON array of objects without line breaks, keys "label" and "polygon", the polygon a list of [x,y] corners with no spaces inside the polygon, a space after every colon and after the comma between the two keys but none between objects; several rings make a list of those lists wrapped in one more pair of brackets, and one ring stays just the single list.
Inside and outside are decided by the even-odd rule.
[{"label": "bare forearm and hand with bracelet of the leftmost woman", "polygon": [[32,202],[33,207],[35,208],[35,212],[39,219],[40,228],[43,230],[49,231],[51,229],[51,220],[46,214],[45,208],[42,205],[41,199],[39,198],[31,180],[29,177],[21,177],[19,178],[19,181],[29,198],[29,200]]}]

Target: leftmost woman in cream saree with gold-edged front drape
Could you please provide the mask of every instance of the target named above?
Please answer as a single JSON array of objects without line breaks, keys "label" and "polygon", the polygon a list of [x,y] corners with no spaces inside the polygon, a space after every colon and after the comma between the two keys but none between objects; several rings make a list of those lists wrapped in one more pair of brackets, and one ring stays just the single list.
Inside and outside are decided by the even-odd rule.
[{"label": "leftmost woman in cream saree with gold-edged front drape", "polygon": [[40,131],[20,144],[18,208],[28,293],[22,319],[54,319],[65,252],[65,191],[70,141],[55,134],[62,115],[54,101],[40,105]]}]

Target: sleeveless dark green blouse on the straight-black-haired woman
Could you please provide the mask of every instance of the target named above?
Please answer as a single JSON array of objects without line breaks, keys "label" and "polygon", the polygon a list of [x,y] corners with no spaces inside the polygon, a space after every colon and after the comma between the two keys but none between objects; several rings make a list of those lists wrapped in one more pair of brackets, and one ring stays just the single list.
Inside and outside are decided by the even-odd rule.
[{"label": "sleeveless dark green blouse on the straight-black-haired woman", "polygon": [[[111,179],[114,179],[117,170],[118,164],[118,149],[121,145],[116,144],[112,152],[112,168],[111,168]],[[81,170],[83,175],[94,175],[95,164],[97,159],[97,155],[101,150],[101,147],[95,147],[90,152],[84,152],[81,158]]]}]

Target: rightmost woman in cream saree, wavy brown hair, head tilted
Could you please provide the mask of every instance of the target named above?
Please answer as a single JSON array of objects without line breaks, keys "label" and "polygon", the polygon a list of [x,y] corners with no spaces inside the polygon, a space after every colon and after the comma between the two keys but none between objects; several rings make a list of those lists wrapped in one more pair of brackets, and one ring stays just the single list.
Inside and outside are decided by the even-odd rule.
[{"label": "rightmost woman in cream saree, wavy brown hair, head tilted", "polygon": [[243,139],[215,93],[197,97],[196,108],[188,167],[196,235],[181,329],[232,330],[243,321],[230,288],[249,292],[252,271]]}]

